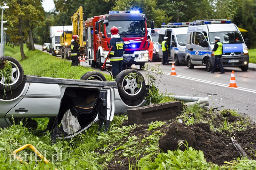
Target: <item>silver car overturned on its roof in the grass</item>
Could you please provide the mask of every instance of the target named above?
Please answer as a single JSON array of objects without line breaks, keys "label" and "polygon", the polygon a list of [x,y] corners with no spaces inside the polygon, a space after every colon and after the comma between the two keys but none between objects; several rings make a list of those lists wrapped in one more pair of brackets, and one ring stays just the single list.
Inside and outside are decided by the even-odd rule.
[{"label": "silver car overturned on its roof in the grass", "polygon": [[[0,71],[7,63],[12,73],[0,72],[1,128],[21,120],[23,124],[36,123],[32,118],[48,117],[44,131],[53,131],[53,138],[71,138],[98,121],[99,130],[104,125],[107,131],[115,114],[147,103],[145,80],[133,69],[119,73],[116,81],[106,81],[104,75],[96,71],[76,80],[24,75],[20,63],[9,56],[0,57]],[[134,73],[143,79],[131,77]],[[63,130],[66,131],[58,137],[60,123],[65,124]]]}]

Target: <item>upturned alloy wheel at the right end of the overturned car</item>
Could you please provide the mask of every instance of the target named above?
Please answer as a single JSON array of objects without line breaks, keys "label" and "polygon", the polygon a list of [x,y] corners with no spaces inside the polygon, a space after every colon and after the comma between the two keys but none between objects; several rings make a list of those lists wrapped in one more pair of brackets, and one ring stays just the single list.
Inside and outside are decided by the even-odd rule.
[{"label": "upturned alloy wheel at the right end of the overturned car", "polygon": [[[139,79],[136,76],[129,78],[128,75],[130,73],[136,73],[136,75],[142,77],[142,79]],[[119,95],[125,100],[135,100],[139,98],[144,94],[146,89],[144,77],[140,72],[134,69],[126,69],[121,71],[116,76],[116,83]]]}]

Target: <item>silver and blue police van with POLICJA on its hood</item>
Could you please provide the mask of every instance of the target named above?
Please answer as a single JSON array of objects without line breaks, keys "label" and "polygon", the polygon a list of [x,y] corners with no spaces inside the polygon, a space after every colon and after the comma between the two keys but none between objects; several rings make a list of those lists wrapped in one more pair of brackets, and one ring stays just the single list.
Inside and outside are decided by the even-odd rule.
[{"label": "silver and blue police van with POLICJA on its hood", "polygon": [[215,36],[220,37],[223,44],[221,64],[223,67],[240,67],[242,71],[248,70],[249,54],[238,27],[226,19],[197,20],[193,26],[188,27],[186,39],[186,62],[188,68],[194,65],[205,65],[210,72],[214,64],[212,49]]}]

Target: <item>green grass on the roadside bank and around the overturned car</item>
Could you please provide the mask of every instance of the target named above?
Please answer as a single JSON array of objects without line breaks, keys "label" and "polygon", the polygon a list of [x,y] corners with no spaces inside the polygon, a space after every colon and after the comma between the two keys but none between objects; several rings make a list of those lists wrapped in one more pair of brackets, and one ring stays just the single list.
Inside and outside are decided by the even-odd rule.
[{"label": "green grass on the roadside bank and around the overturned car", "polygon": [[[43,53],[39,50],[34,52],[25,49],[28,59],[21,61],[19,47],[14,49],[6,46],[5,54],[12,56],[20,61],[24,68],[25,74],[41,75],[59,78],[76,78],[79,79],[85,72],[91,71],[86,67],[71,67],[71,63],[61,60],[50,54]],[[166,97],[162,102],[168,101]],[[221,124],[214,124],[211,117],[216,114],[205,111],[198,106],[190,106],[184,109],[180,115],[184,122],[193,124],[204,121],[211,123],[211,128],[221,129]],[[210,115],[207,119],[204,114]],[[232,114],[237,116],[235,111],[223,111],[222,116]],[[40,119],[40,128],[47,122],[47,118]],[[226,166],[219,167],[205,161],[202,151],[194,150],[187,146],[185,151],[168,151],[168,153],[159,153],[159,139],[164,135],[163,131],[159,131],[159,127],[164,122],[152,122],[148,124],[148,131],[152,135],[131,136],[130,131],[139,125],[123,126],[127,121],[127,116],[115,116],[110,123],[110,129],[107,133],[98,133],[98,125],[93,124],[92,127],[85,132],[77,135],[70,140],[58,139],[56,144],[51,143],[49,133],[43,136],[36,136],[34,131],[22,127],[22,124],[12,125],[11,127],[0,129],[0,165],[1,169],[107,169],[110,161],[116,159],[116,153],[121,152],[123,157],[135,158],[135,162],[130,161],[129,169],[250,169],[256,167],[254,160],[234,160],[228,162]],[[243,127],[247,121],[241,121],[237,126]],[[232,127],[232,126],[231,126]],[[237,127],[239,128],[239,127]],[[225,128],[224,128],[225,129]],[[243,128],[241,128],[243,130]],[[124,140],[126,139],[126,140]],[[45,164],[43,161],[36,161],[35,154],[25,149],[19,152],[20,157],[27,156],[28,165],[20,164],[16,160],[12,151],[25,144],[34,145],[51,164]],[[101,152],[101,153],[100,153]],[[31,156],[31,159],[30,159]],[[117,162],[122,164],[122,162]]]}]

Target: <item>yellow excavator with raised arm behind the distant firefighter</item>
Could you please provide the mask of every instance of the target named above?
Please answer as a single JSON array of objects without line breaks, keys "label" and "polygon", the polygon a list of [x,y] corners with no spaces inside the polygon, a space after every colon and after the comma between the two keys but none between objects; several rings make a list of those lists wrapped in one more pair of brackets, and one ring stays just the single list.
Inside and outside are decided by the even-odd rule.
[{"label": "yellow excavator with raised arm behind the distant firefighter", "polygon": [[63,31],[60,35],[60,45],[62,46],[60,50],[60,56],[63,59],[71,59],[71,39],[73,35],[79,36],[79,46],[80,46],[80,55],[84,55],[84,46],[86,42],[84,41],[84,21],[83,21],[83,8],[80,6],[79,9],[73,14],[71,18],[73,30]]}]

